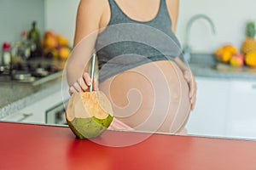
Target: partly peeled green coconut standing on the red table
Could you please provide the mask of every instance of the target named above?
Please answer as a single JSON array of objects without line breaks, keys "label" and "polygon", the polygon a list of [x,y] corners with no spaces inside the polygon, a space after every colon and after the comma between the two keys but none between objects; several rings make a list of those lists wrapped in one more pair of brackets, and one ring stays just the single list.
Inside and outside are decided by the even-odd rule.
[{"label": "partly peeled green coconut standing on the red table", "polygon": [[113,121],[112,105],[102,91],[73,94],[67,104],[66,119],[77,138],[96,138]]}]

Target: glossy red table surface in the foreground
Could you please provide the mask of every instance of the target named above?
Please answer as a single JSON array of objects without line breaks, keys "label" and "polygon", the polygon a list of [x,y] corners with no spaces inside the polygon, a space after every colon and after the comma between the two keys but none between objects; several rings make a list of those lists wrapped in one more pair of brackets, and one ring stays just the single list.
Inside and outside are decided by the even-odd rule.
[{"label": "glossy red table surface in the foreground", "polygon": [[[106,133],[116,140],[143,135]],[[256,142],[153,134],[117,148],[75,139],[68,127],[0,122],[0,169],[256,170]]]}]

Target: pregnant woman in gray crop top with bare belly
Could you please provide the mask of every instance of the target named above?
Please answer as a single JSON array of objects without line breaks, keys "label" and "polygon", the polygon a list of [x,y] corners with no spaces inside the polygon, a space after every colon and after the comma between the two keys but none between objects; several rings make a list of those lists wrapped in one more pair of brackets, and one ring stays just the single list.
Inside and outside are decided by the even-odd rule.
[{"label": "pregnant woman in gray crop top with bare belly", "polygon": [[96,51],[94,89],[113,104],[113,128],[182,132],[196,88],[174,34],[177,15],[178,0],[81,0],[67,62],[69,93],[88,90]]}]

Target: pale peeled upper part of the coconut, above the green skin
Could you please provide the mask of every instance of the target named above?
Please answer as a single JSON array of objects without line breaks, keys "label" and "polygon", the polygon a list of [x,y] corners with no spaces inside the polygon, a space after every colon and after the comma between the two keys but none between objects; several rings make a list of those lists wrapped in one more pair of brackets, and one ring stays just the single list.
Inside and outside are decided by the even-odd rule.
[{"label": "pale peeled upper part of the coconut, above the green skin", "polygon": [[106,119],[113,116],[112,105],[102,91],[73,94],[67,104],[67,121],[74,118]]}]

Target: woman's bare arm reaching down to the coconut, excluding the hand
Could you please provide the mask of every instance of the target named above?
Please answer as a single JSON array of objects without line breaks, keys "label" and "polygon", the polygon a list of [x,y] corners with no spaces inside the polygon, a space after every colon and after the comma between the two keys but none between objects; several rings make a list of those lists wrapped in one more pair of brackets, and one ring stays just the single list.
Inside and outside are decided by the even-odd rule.
[{"label": "woman's bare arm reaching down to the coconut, excluding the hand", "polygon": [[67,83],[71,87],[88,72],[90,58],[94,53],[99,23],[102,16],[102,3],[96,0],[80,0],[73,52],[67,60]]}]

